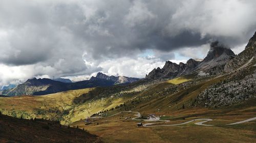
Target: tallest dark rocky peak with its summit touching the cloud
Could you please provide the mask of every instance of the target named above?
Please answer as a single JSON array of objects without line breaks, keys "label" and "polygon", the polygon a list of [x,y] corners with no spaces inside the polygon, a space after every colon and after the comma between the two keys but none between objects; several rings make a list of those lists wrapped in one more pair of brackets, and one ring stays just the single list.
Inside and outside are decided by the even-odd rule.
[{"label": "tallest dark rocky peak with its summit touching the cloud", "polygon": [[220,44],[219,41],[215,41],[210,44],[210,49],[203,62],[209,62],[214,59],[219,59],[223,61],[231,59],[234,56],[236,56],[236,54],[234,54],[234,52],[230,48]]}]

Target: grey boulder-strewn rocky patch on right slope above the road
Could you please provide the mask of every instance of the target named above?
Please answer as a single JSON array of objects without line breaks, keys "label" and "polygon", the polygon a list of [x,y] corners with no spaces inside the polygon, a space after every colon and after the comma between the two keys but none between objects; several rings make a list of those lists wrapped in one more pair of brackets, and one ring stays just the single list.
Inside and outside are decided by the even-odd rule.
[{"label": "grey boulder-strewn rocky patch on right slope above the road", "polygon": [[196,104],[205,107],[228,106],[249,98],[255,98],[256,74],[250,74],[240,80],[225,80],[211,85],[196,98]]}]

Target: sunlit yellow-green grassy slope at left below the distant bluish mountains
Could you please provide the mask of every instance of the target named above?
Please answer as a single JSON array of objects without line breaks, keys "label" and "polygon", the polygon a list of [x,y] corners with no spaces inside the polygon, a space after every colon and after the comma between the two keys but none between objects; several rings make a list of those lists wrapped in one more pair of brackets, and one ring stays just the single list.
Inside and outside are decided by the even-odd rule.
[{"label": "sunlit yellow-green grassy slope at left below the distant bluish mountains", "polygon": [[[93,113],[105,109],[111,109],[123,104],[132,98],[132,92],[123,94],[122,97],[102,97],[96,98],[97,94],[104,91],[92,89],[81,89],[60,92],[44,96],[17,96],[0,98],[0,111],[3,114],[30,119],[47,118],[61,121],[61,124],[69,124],[90,117]],[[89,94],[92,93],[92,94]],[[87,100],[82,103],[74,103],[74,100],[81,95],[86,95]],[[94,98],[95,97],[95,98]],[[90,100],[89,100],[90,99]]]}]

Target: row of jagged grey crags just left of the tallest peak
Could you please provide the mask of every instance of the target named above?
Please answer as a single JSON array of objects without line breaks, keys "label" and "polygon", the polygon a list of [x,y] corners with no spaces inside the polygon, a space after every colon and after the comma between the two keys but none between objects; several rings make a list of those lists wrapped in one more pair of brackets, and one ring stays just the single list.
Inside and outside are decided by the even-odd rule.
[{"label": "row of jagged grey crags just left of the tallest peak", "polygon": [[157,69],[153,69],[150,73],[148,73],[148,75],[146,75],[146,78],[174,78],[193,71],[199,64],[200,62],[194,59],[189,59],[186,64],[180,63],[179,65],[167,61],[162,69],[159,67]]}]

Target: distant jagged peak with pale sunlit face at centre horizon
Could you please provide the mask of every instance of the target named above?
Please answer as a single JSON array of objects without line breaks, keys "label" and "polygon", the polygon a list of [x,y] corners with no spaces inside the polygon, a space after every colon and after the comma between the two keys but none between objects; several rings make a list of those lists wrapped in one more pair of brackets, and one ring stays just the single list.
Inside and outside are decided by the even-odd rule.
[{"label": "distant jagged peak with pale sunlit face at centre horizon", "polygon": [[110,80],[113,81],[115,84],[120,84],[120,83],[132,83],[135,82],[137,80],[139,80],[139,78],[134,78],[134,77],[126,77],[126,76],[108,76],[106,74],[103,74],[101,72],[97,73],[96,77],[92,77],[90,80],[97,80],[97,79],[106,79],[106,80]]}]

